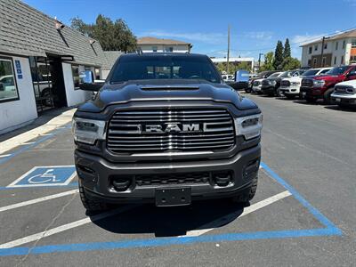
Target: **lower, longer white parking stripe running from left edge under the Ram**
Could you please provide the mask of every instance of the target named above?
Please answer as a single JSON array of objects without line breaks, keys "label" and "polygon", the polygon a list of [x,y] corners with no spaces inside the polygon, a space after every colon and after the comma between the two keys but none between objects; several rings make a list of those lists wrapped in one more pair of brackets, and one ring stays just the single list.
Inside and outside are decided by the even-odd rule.
[{"label": "lower, longer white parking stripe running from left edge under the Ram", "polygon": [[36,234],[30,235],[30,236],[22,238],[22,239],[16,239],[16,240],[4,243],[4,244],[0,245],[0,248],[18,247],[20,245],[23,245],[23,244],[26,244],[26,243],[29,243],[29,242],[32,242],[32,241],[36,241],[36,240],[39,240],[39,239],[43,239],[45,237],[52,236],[52,235],[54,235],[56,233],[59,233],[61,231],[67,231],[69,229],[73,229],[73,228],[76,228],[78,226],[81,226],[81,225],[84,225],[84,224],[87,224],[87,223],[92,223],[92,222],[99,221],[101,219],[107,218],[109,216],[113,216],[113,215],[116,215],[116,214],[123,213],[125,211],[128,211],[128,210],[134,208],[134,207],[135,206],[124,206],[124,207],[117,208],[117,209],[111,210],[111,211],[103,213],[103,214],[97,214],[97,215],[94,215],[92,217],[87,217],[85,219],[78,220],[78,221],[73,222],[73,223],[63,224],[61,226],[55,227],[53,229],[50,229],[48,231],[41,231],[41,232],[38,232]]}]

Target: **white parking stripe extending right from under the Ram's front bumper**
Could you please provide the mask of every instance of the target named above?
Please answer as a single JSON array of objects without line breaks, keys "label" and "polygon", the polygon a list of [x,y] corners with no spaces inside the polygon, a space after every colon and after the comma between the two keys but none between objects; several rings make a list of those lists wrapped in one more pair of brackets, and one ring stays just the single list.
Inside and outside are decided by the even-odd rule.
[{"label": "white parking stripe extending right from under the Ram's front bumper", "polygon": [[236,218],[238,216],[242,217],[247,214],[251,214],[251,213],[255,212],[256,210],[263,208],[264,206],[269,206],[272,203],[274,203],[282,198],[287,198],[290,195],[292,195],[292,194],[286,190],[286,191],[281,192],[275,196],[272,196],[271,198],[266,198],[266,199],[264,199],[260,202],[257,202],[251,206],[247,206],[246,208],[244,208],[244,212],[240,215],[239,215],[239,211],[236,211],[232,214],[228,214],[226,216],[223,216],[222,218],[214,220],[213,222],[206,223],[206,224],[200,226],[201,229],[199,229],[199,230],[187,231],[187,233],[183,236],[180,236],[180,238],[201,236],[202,234],[205,234],[208,231],[213,231],[214,229],[216,229],[217,225],[223,225],[224,223],[230,222],[231,220],[233,220],[234,218]]}]

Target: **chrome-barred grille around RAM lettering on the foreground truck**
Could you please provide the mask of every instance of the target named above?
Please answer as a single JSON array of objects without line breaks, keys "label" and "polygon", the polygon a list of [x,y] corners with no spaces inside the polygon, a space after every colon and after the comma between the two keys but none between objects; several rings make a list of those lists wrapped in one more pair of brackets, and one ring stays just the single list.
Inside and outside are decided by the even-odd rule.
[{"label": "chrome-barred grille around RAM lettering on the foreground truck", "polygon": [[[147,132],[160,125],[161,132]],[[194,131],[165,131],[166,125],[195,125]],[[193,127],[190,126],[190,130]],[[145,131],[146,129],[146,131]],[[109,122],[107,146],[114,153],[229,150],[235,144],[226,109],[132,109],[117,111]]]}]

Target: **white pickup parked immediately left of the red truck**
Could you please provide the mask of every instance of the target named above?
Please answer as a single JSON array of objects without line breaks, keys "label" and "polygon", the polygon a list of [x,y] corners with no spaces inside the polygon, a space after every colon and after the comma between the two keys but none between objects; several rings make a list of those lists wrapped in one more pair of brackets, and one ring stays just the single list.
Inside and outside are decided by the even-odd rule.
[{"label": "white pickup parked immediately left of the red truck", "polygon": [[301,73],[301,76],[283,78],[280,82],[279,92],[284,94],[287,99],[294,99],[295,96],[300,96],[300,86],[303,77],[311,77],[322,75],[331,68],[308,69]]}]

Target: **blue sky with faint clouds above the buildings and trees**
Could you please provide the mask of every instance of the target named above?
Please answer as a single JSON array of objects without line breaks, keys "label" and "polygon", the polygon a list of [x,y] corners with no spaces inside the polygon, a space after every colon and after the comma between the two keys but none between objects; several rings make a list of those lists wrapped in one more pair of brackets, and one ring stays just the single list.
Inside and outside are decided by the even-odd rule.
[{"label": "blue sky with faint clouds above the buildings and trees", "polygon": [[231,26],[231,57],[274,51],[289,38],[292,56],[303,42],[356,28],[356,0],[24,0],[70,25],[98,14],[123,19],[137,37],[172,38],[193,44],[192,53],[224,57]]}]

